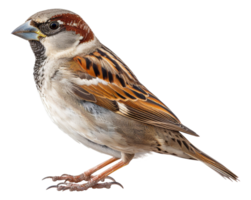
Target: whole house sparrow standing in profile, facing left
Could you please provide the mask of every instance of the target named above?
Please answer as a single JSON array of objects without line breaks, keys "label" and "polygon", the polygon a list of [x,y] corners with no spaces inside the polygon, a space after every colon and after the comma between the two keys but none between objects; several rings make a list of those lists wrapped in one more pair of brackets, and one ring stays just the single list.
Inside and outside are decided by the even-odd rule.
[{"label": "whole house sparrow standing in profile, facing left", "polygon": [[200,134],[146,87],[128,64],[68,8],[47,8],[11,31],[35,58],[33,80],[51,123],[73,142],[108,158],[78,174],[45,175],[57,192],[124,189],[112,174],[151,154],[200,162],[223,180],[239,175],[196,146]]}]

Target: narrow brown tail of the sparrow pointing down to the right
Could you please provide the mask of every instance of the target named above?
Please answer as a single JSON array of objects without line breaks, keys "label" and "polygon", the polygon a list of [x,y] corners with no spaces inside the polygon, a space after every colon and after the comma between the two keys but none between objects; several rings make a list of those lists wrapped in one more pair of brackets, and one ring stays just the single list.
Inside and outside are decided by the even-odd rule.
[{"label": "narrow brown tail of the sparrow pointing down to the right", "polygon": [[241,184],[241,179],[239,175],[234,172],[232,169],[228,168],[226,165],[220,161],[213,158],[209,153],[196,149],[194,154],[190,154],[192,157],[196,158],[201,164],[209,168],[210,171],[213,171],[220,178],[230,183]]}]

